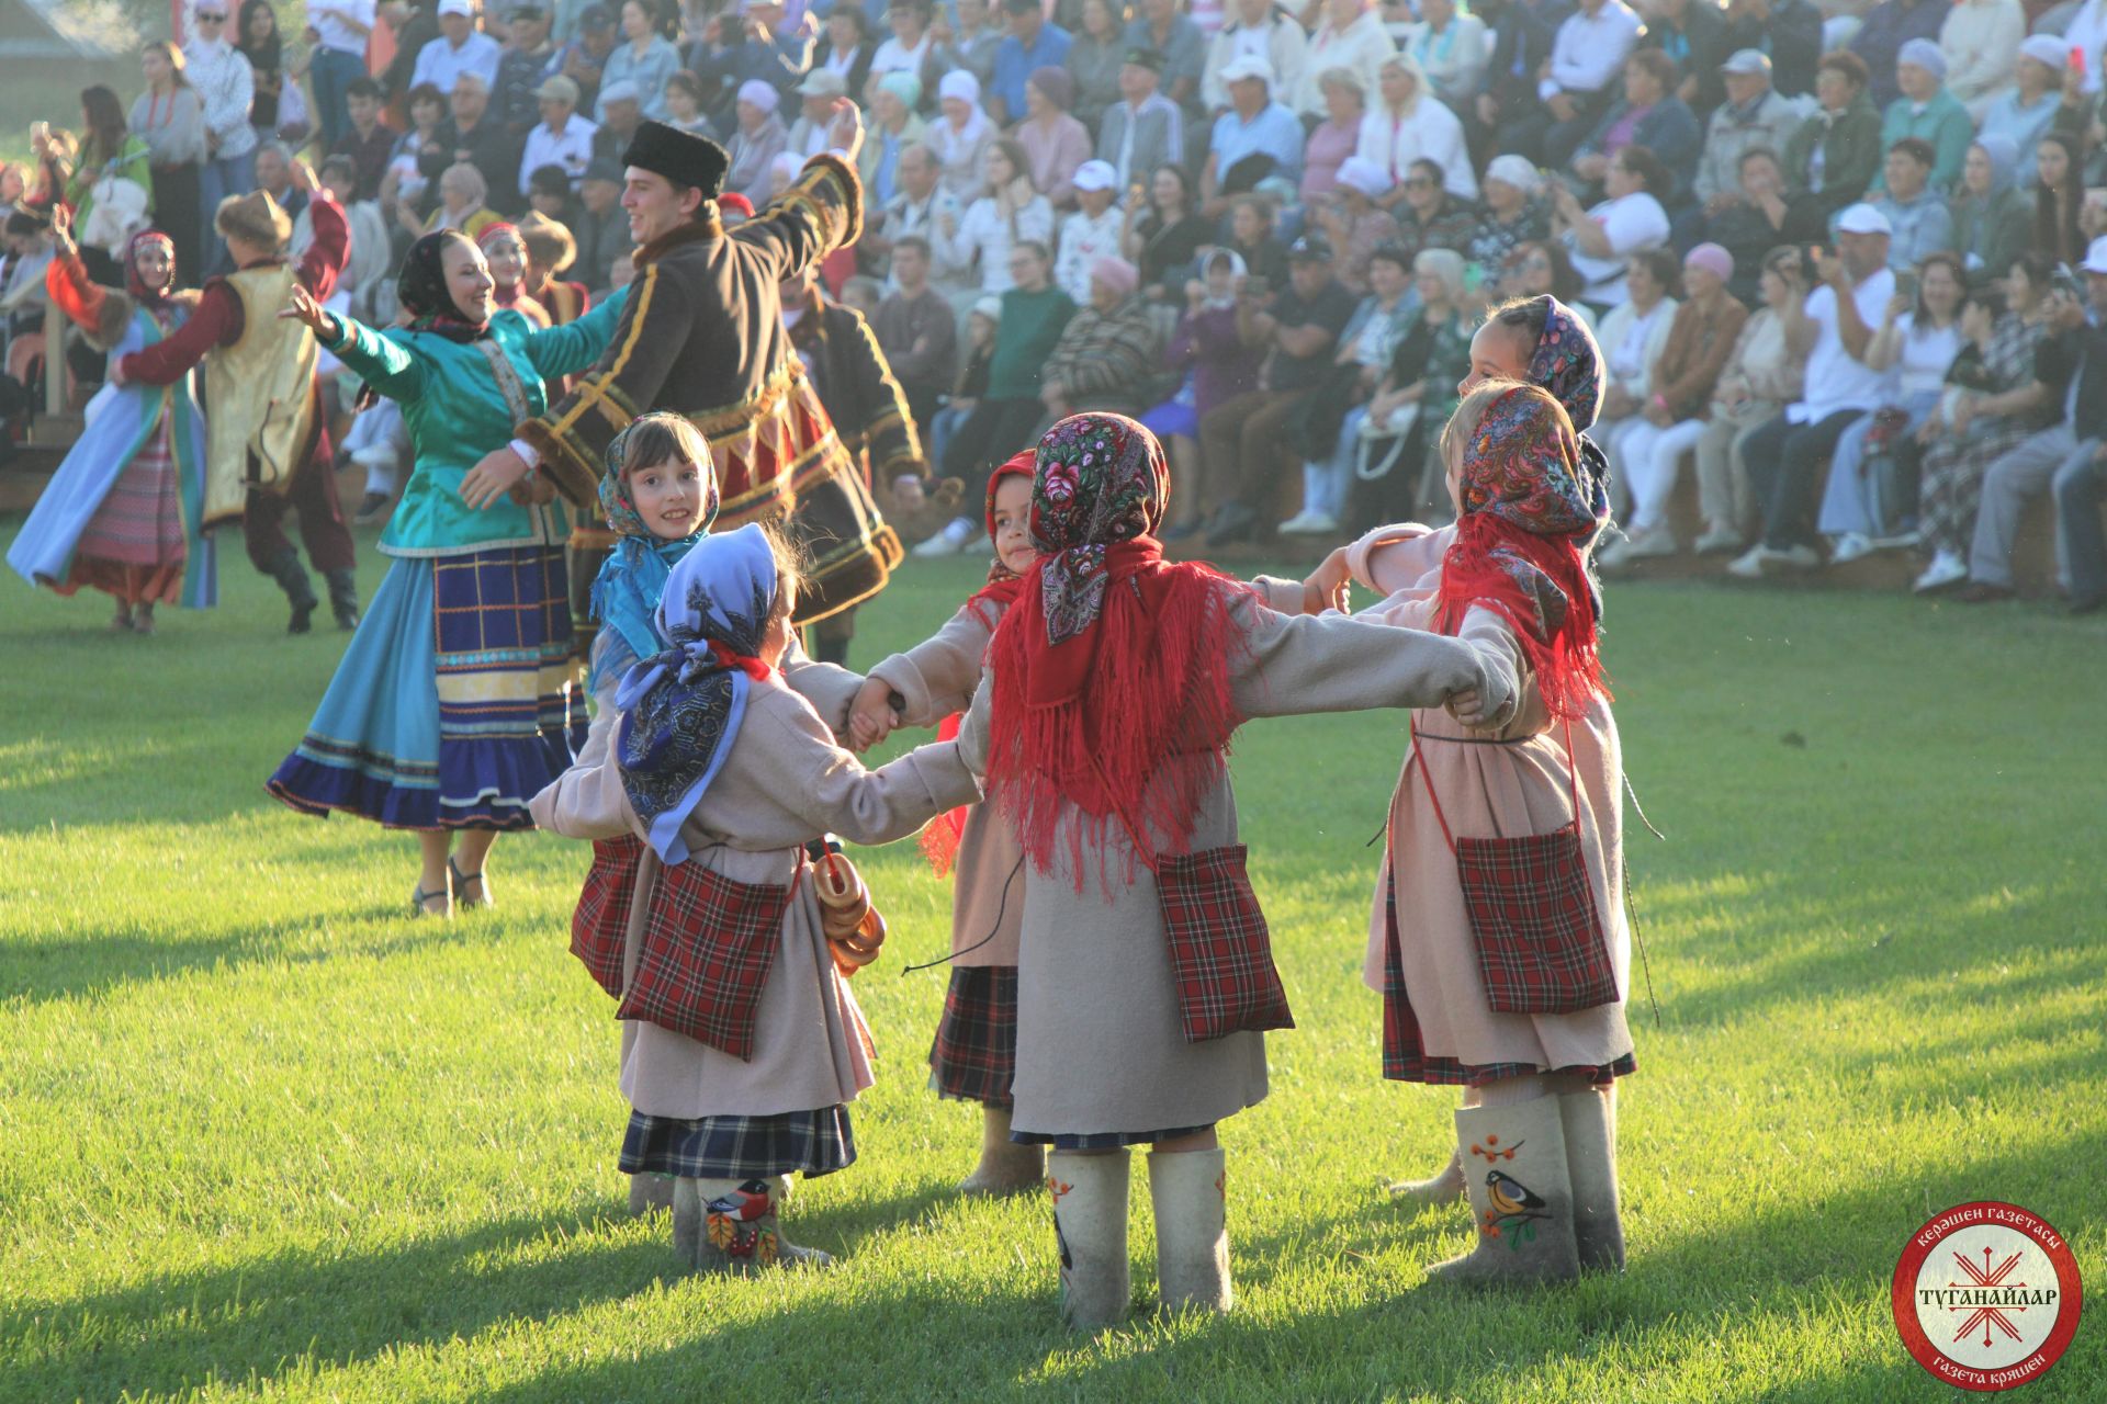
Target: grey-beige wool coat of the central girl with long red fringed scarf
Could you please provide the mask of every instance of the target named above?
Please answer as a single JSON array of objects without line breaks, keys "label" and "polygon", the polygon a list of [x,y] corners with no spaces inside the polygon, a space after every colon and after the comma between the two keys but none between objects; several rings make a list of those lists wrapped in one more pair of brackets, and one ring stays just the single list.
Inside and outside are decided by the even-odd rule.
[{"label": "grey-beige wool coat of the central girl with long red fringed scarf", "polygon": [[[1237,634],[1233,699],[1247,718],[1439,705],[1464,688],[1498,701],[1498,680],[1460,640],[1342,615],[1289,617],[1258,589],[1224,589],[1235,591],[1226,615]],[[988,695],[984,686],[973,699],[959,737],[976,768],[986,764]],[[1224,775],[1190,846],[1237,842],[1237,798]],[[1072,869],[1064,838],[1054,853],[1051,871],[1024,867],[1011,1124],[1039,1135],[1155,1132],[1220,1122],[1262,1101],[1262,1034],[1184,1040],[1157,880],[1142,865],[1131,884],[1117,880],[1127,842],[1108,840],[1110,895],[1094,863]]]}]

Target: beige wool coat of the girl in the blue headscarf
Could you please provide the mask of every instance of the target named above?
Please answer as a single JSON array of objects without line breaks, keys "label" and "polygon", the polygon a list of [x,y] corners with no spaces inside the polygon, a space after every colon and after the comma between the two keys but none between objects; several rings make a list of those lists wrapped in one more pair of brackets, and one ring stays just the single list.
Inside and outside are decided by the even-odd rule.
[{"label": "beige wool coat of the girl in the blue headscarf", "polygon": [[[605,638],[598,644],[607,646]],[[799,663],[790,678],[824,697],[853,697],[855,678]],[[834,674],[841,674],[839,678]],[[849,690],[843,693],[843,686]],[[603,699],[577,762],[531,802],[535,823],[567,838],[645,836],[622,791],[613,756],[619,714]],[[832,701],[830,701],[832,707]],[[649,1116],[769,1116],[853,1101],[870,1086],[870,1029],[834,970],[805,844],[841,834],[887,844],[933,815],[980,798],[954,743],[925,745],[879,770],[834,741],[832,726],[780,678],[752,684],[731,754],[683,827],[691,855],[735,882],[796,882],[775,964],[761,991],[752,1059],[742,1061],[653,1023],[630,1021],[622,1040],[622,1092]],[[624,979],[636,975],[659,861],[645,853],[626,932]]]}]

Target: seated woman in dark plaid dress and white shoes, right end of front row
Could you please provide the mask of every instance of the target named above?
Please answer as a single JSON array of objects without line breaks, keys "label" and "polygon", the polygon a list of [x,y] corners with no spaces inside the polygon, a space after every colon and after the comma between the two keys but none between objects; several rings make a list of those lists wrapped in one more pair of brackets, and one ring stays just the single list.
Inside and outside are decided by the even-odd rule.
[{"label": "seated woman in dark plaid dress and white shoes, right end of front row", "polygon": [[[2056,404],[2042,383],[2035,360],[2048,343],[2050,286],[2054,265],[2025,255],[1997,288],[1970,293],[1962,309],[1962,337],[1974,356],[1955,360],[1947,389],[1917,438],[1926,444],[1917,476],[1917,549],[1930,562],[1917,575],[1915,591],[1936,594],[1968,579],[1968,543],[1974,537],[1976,503],[1983,501],[1983,469],[2050,427]],[[1987,316],[1995,318],[1985,335]],[[1966,373],[1970,370],[1972,373]]]}]

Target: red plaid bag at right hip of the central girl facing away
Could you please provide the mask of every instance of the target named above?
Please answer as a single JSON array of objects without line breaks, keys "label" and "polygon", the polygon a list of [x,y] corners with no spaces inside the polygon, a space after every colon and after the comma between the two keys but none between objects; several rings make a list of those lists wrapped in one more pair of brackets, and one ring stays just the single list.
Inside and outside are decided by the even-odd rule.
[{"label": "red plaid bag at right hip of the central girl facing away", "polygon": [[1157,861],[1163,935],[1188,1044],[1296,1027],[1243,859],[1243,844],[1235,844]]}]

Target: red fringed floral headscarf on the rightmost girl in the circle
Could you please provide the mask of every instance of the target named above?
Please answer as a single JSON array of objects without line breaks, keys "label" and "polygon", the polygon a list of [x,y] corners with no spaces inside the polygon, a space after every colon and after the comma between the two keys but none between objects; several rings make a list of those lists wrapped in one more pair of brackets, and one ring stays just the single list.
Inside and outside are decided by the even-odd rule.
[{"label": "red fringed floral headscarf on the rightmost girl in the circle", "polygon": [[1441,627],[1498,610],[1521,640],[1544,705],[1572,720],[1603,690],[1584,549],[1595,509],[1572,421],[1538,385],[1509,385],[1462,453],[1456,541],[1441,562]]}]

